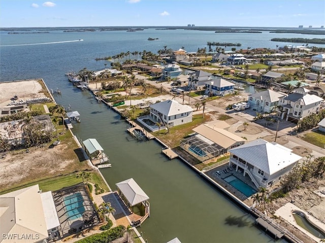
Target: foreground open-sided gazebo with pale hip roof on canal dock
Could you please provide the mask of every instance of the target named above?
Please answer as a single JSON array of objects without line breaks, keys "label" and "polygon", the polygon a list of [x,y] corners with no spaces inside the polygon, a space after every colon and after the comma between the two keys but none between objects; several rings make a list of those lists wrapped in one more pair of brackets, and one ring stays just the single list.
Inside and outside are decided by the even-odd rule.
[{"label": "foreground open-sided gazebo with pale hip roof on canal dock", "polygon": [[140,223],[150,216],[149,197],[133,178],[117,183],[116,187],[117,193],[132,213],[135,213],[135,207],[140,210]]}]

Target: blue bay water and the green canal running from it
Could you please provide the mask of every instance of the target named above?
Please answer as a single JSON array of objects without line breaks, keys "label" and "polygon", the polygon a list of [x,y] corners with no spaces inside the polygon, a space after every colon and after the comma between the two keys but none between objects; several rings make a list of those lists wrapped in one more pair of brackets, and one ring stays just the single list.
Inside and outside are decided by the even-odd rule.
[{"label": "blue bay water and the green canal running from it", "polygon": [[[147,44],[146,41],[142,41],[143,38],[146,40],[148,37],[159,37],[160,40],[164,37],[158,36],[163,32],[150,31],[152,32],[149,36],[144,34],[145,32],[118,31],[100,33],[51,31],[49,34],[35,35],[9,35],[2,32],[0,80],[43,78],[49,88],[61,90],[61,95],[54,96],[57,103],[64,107],[71,105],[72,110],[77,110],[81,115],[81,123],[74,126],[73,132],[83,141],[87,138],[96,138],[109,155],[112,167],[105,168],[102,172],[112,189],[116,188],[115,183],[134,178],[150,197],[151,217],[139,228],[149,243],[163,243],[174,237],[178,237],[183,243],[273,241],[273,237],[255,226],[252,217],[182,161],[168,160],[164,157],[157,142],[135,141],[126,132],[127,124],[117,113],[108,109],[106,105],[99,104],[90,92],[73,87],[64,76],[64,73],[71,70],[79,71],[84,67],[93,71],[101,70],[104,63],[109,62],[95,61],[95,57],[110,56],[127,50],[134,51],[137,50],[137,46],[141,51],[144,45],[155,43]],[[117,32],[117,36],[114,32]],[[181,34],[181,31],[173,30],[173,36],[177,36],[177,33]],[[134,34],[134,39],[130,38],[130,34]],[[189,33],[186,33],[186,37],[190,37],[188,38],[190,43],[195,38],[202,43],[198,33],[191,34],[192,36],[189,36]],[[167,40],[166,36],[164,38]],[[78,39],[84,41],[6,46]],[[237,40],[236,38],[228,41]],[[165,45],[169,44],[157,42],[156,46],[150,46],[147,50],[156,52]],[[180,43],[180,46],[186,47],[186,43]],[[176,45],[171,47],[179,48]],[[189,51],[195,51],[197,48],[198,46],[192,47]]]}]

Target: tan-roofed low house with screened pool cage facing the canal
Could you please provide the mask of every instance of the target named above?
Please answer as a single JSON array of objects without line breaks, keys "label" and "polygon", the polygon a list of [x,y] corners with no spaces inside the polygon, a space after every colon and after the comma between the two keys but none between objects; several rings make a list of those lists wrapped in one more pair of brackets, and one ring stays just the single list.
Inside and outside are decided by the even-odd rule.
[{"label": "tan-roofed low house with screened pool cage facing the canal", "polygon": [[180,142],[180,148],[200,161],[215,160],[229,149],[245,143],[245,139],[220,128],[223,124],[202,124],[193,129],[195,133]]}]

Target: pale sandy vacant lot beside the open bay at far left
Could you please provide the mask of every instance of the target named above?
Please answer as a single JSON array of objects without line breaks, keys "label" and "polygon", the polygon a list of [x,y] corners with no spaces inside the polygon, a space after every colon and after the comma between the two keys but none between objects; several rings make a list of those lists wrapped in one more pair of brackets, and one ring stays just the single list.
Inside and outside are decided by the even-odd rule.
[{"label": "pale sandy vacant lot beside the open bay at far left", "polygon": [[0,107],[7,106],[14,95],[18,95],[18,100],[49,97],[47,90],[43,90],[42,82],[42,80],[0,82]]}]

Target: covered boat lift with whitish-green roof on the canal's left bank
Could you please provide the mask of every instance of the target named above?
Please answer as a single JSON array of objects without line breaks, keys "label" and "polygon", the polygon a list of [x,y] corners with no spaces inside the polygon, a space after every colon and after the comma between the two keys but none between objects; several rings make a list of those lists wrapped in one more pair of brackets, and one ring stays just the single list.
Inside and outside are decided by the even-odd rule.
[{"label": "covered boat lift with whitish-green roof on the canal's left bank", "polygon": [[94,165],[109,161],[107,155],[104,153],[104,149],[95,138],[88,138],[82,144],[86,154]]}]

